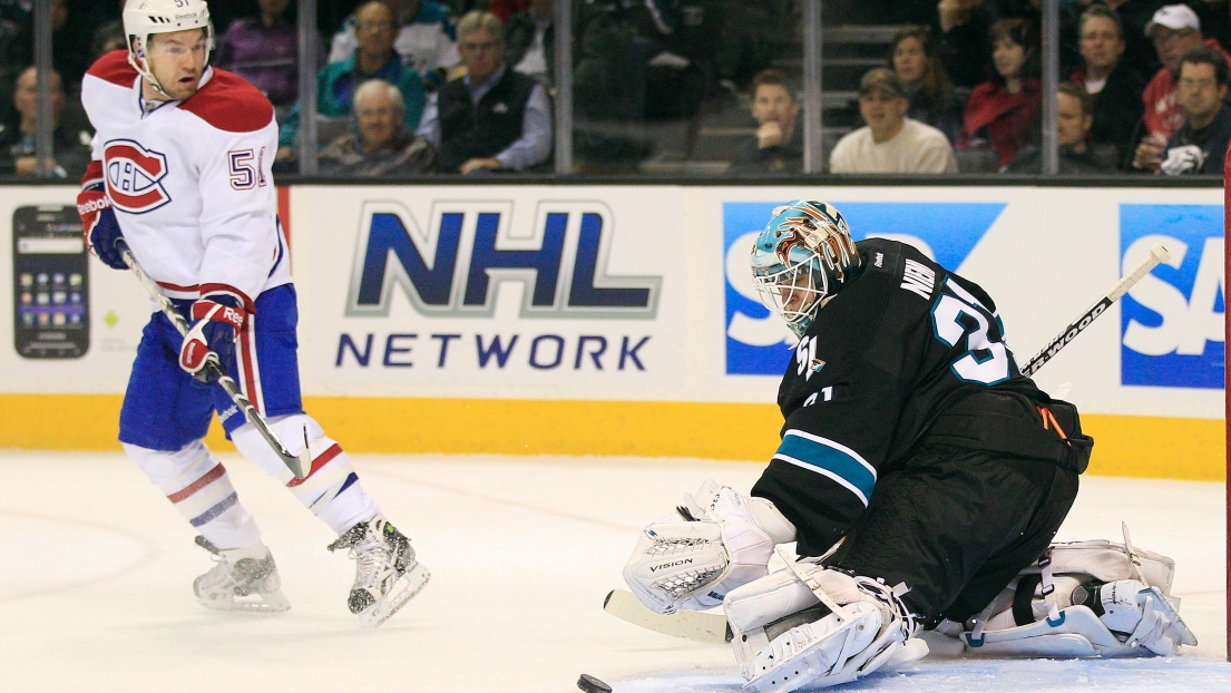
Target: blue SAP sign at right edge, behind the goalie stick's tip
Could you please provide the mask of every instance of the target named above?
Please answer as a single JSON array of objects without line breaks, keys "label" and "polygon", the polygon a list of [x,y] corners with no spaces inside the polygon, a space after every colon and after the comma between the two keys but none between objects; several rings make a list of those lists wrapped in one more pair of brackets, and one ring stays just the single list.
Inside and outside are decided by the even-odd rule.
[{"label": "blue SAP sign at right edge, behind the goalie stick's tip", "polygon": [[1121,268],[1161,242],[1171,260],[1123,299],[1120,380],[1125,385],[1225,385],[1224,215],[1219,204],[1121,204]]}]

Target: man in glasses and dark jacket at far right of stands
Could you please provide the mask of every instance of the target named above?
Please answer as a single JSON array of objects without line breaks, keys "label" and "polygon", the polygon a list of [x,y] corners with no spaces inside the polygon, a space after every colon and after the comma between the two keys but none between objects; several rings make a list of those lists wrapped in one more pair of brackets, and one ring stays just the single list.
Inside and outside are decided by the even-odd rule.
[{"label": "man in glasses and dark jacket at far right of stands", "polygon": [[1179,107],[1184,124],[1167,142],[1163,174],[1222,176],[1231,142],[1231,106],[1227,98],[1227,63],[1209,46],[1190,48],[1181,58]]}]

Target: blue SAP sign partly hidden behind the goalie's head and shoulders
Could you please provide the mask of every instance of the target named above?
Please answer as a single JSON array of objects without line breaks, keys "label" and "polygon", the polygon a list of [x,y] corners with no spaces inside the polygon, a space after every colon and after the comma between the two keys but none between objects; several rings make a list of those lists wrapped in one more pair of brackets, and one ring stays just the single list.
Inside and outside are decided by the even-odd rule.
[{"label": "blue SAP sign partly hidden behind the goalie's head and shoulders", "polygon": [[[777,203],[723,204],[726,244],[726,372],[782,375],[798,341],[777,315],[761,304],[748,270],[752,242]],[[856,240],[870,236],[902,241],[942,266],[961,263],[1004,209],[1002,203],[835,202]],[[881,266],[884,257],[873,257]]]}]

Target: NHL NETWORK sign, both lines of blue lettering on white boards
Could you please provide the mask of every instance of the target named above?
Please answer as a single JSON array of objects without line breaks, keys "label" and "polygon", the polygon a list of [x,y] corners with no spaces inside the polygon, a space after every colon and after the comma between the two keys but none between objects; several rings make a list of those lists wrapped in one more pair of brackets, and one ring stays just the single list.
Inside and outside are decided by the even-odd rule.
[{"label": "NHL NETWORK sign, both lines of blue lettering on white boards", "polygon": [[[346,316],[389,318],[405,300],[432,320],[416,320],[415,334],[343,332],[335,367],[645,371],[650,336],[603,334],[602,321],[654,320],[662,277],[608,274],[616,234],[604,204],[540,202],[515,215],[512,202],[436,202],[420,222],[400,203],[364,203]],[[511,319],[500,295],[517,287]],[[437,343],[438,355],[423,353]],[[411,363],[416,345],[421,358]]]}]

